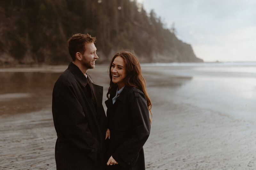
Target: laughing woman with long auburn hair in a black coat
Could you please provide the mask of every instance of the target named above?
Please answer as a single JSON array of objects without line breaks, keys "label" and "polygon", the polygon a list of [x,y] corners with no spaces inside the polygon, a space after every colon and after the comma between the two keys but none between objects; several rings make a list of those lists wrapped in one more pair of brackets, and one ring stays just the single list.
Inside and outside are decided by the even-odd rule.
[{"label": "laughing woman with long auburn hair in a black coat", "polygon": [[143,170],[143,145],[150,133],[151,101],[138,59],[130,52],[116,53],[109,66],[109,77],[105,101],[106,138],[109,138],[107,169]]}]

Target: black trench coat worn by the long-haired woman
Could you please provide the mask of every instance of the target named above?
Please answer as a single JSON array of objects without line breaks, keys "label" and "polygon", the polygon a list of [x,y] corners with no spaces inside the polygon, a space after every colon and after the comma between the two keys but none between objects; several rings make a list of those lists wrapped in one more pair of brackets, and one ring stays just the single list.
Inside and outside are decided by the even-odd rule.
[{"label": "black trench coat worn by the long-haired woman", "polygon": [[143,145],[150,133],[149,111],[143,92],[135,87],[127,87],[121,92],[113,105],[116,89],[105,101],[110,139],[107,159],[118,162],[107,169],[143,170],[145,159]]}]

